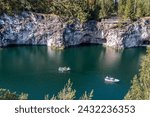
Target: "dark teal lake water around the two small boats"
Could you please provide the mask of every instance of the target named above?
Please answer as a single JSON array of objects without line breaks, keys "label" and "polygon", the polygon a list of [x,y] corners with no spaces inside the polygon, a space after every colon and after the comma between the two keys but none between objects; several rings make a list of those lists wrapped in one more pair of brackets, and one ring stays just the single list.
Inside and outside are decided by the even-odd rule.
[{"label": "dark teal lake water around the two small boats", "polygon": [[[0,87],[29,94],[29,99],[44,99],[60,91],[68,79],[76,89],[76,99],[84,91],[94,90],[93,99],[123,99],[133,76],[138,73],[145,48],[116,51],[100,45],[53,51],[45,46],[0,49]],[[59,66],[70,66],[71,72],[59,73]],[[104,82],[106,76],[119,83]]]}]

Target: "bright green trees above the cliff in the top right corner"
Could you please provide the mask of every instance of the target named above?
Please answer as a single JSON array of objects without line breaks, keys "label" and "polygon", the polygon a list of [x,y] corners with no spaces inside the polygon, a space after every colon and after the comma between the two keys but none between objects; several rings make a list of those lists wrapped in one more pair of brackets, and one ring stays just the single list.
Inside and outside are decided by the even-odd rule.
[{"label": "bright green trees above the cliff in the top right corner", "polygon": [[150,16],[150,0],[119,0],[118,15],[120,17],[137,19]]}]

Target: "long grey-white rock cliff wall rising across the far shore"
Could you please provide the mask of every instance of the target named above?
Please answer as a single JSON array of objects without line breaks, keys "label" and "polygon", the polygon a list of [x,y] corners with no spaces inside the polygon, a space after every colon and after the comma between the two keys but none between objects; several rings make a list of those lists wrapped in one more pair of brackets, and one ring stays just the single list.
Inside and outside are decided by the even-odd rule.
[{"label": "long grey-white rock cliff wall rising across the far shore", "polygon": [[64,48],[82,43],[103,44],[114,48],[140,46],[150,41],[150,18],[134,23],[117,20],[63,22],[56,15],[23,12],[0,17],[0,47],[8,45],[47,45]]}]

